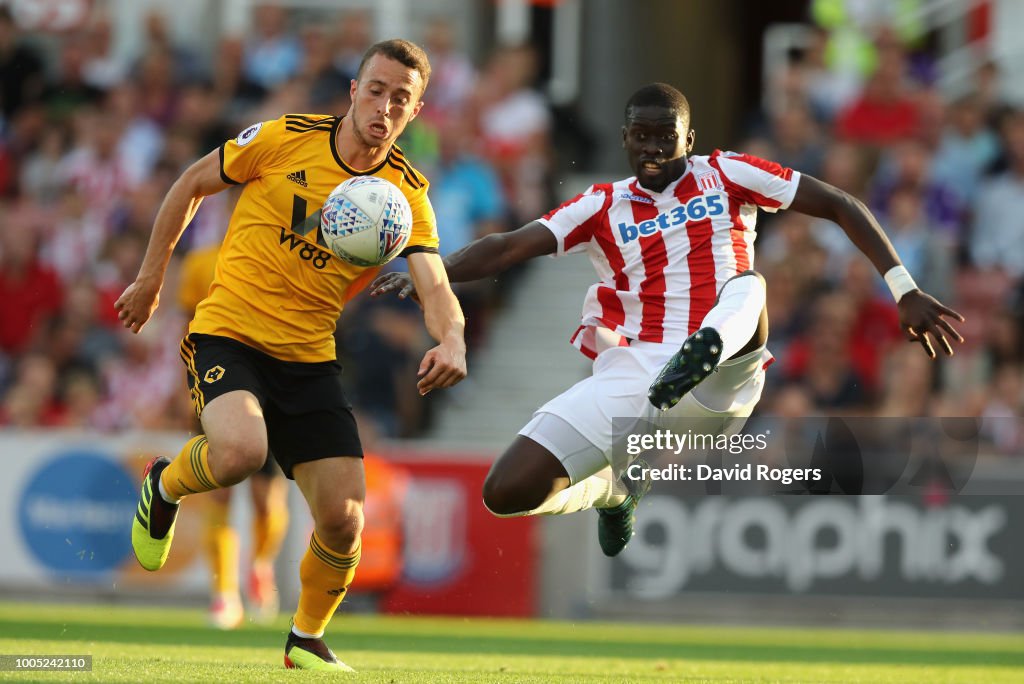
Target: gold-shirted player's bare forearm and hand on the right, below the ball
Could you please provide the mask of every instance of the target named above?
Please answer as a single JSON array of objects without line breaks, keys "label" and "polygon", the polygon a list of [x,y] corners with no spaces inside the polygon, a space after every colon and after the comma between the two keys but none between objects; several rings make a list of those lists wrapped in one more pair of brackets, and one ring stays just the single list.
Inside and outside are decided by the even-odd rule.
[{"label": "gold-shirted player's bare forearm and hand on the right, below the ball", "polygon": [[466,377],[466,319],[444,273],[444,264],[436,254],[417,252],[409,255],[409,271],[423,305],[427,332],[438,345],[420,361],[420,394],[451,387]]}]

